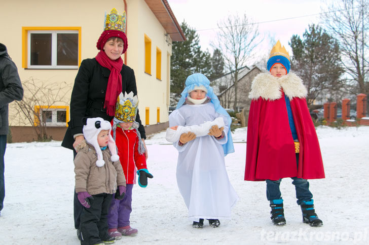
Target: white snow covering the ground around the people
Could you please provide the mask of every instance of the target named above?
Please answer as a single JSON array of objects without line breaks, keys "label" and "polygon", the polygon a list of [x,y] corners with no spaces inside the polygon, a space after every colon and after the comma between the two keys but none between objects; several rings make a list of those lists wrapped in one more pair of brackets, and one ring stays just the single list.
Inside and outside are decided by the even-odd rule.
[{"label": "white snow covering the ground around the people", "polygon": [[[207,223],[192,228],[175,179],[177,151],[165,140],[165,131],[147,139],[147,166],[154,178],[146,188],[133,188],[131,226],[138,235],[115,244],[369,243],[368,187],[363,185],[369,176],[369,127],[317,128],[326,178],[309,182],[322,227],[302,223],[290,179],[281,183],[287,224],[272,224],[265,182],[243,180],[246,131],[235,130],[235,153],[226,157],[240,200],[232,219],[220,220],[218,228]],[[73,225],[72,152],[60,141],[8,144],[5,183],[3,244],[79,244]]]}]

